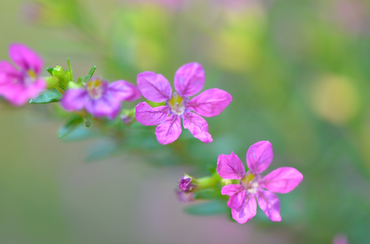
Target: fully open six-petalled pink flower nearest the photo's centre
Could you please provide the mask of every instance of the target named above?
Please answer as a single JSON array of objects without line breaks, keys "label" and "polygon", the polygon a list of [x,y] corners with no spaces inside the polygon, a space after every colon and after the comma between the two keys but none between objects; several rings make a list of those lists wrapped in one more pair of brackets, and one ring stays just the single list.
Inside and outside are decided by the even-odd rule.
[{"label": "fully open six-petalled pink flower nearest the photo's centre", "polygon": [[[204,70],[199,63],[187,63],[175,73],[175,89],[162,74],[144,72],[138,74],[137,83],[142,95],[153,102],[165,102],[164,106],[152,108],[146,102],[136,106],[136,118],[143,125],[158,125],[155,129],[161,144],[174,142],[181,134],[180,118],[185,129],[204,143],[212,142],[208,123],[201,116],[213,117],[225,109],[232,97],[226,91],[212,88],[193,97],[202,90],[205,82]],[[190,112],[190,111],[194,111]],[[169,115],[169,116],[168,116]]]}]

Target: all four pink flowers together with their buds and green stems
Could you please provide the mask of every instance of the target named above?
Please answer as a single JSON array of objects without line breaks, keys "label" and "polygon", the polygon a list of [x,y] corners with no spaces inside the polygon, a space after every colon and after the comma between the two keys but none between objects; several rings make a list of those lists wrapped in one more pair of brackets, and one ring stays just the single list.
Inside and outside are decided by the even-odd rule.
[{"label": "all four pink flowers together with their buds and green stems", "polygon": [[[122,123],[129,125],[136,117],[143,125],[157,125],[155,135],[161,144],[178,139],[181,134],[181,118],[184,128],[195,138],[204,143],[212,142],[208,123],[202,116],[219,115],[232,101],[229,93],[218,88],[205,90],[190,98],[199,93],[205,83],[204,70],[199,63],[186,63],[176,71],[176,91],[172,93],[168,80],[154,72],[138,74],[135,86],[125,80],[109,83],[92,77],[96,68],[93,66],[84,79],[80,77],[74,82],[69,60],[68,71],[61,66],[48,68],[52,75],[50,79],[40,77],[42,59],[27,46],[17,43],[10,45],[9,56],[20,69],[5,60],[0,62],[0,95],[11,104],[20,106],[30,98],[32,103],[60,101],[64,109],[78,114],[76,121],[81,122],[81,117],[86,116],[86,126],[89,126],[91,116],[114,119],[121,112],[122,101],[134,101],[143,95],[147,100],[163,105],[152,107],[147,102],[140,102],[135,109],[121,112]],[[47,87],[57,90],[49,91],[54,95],[56,92],[55,97],[45,95],[47,91],[43,96],[40,94]],[[43,97],[41,102],[35,96]],[[204,195],[204,191],[210,189],[211,192],[217,189],[219,195],[218,187],[221,184],[221,194],[230,196],[227,205],[237,222],[245,223],[254,217],[257,202],[270,220],[281,221],[280,202],[275,193],[292,191],[302,181],[303,175],[295,168],[281,167],[263,177],[261,173],[268,168],[272,159],[272,145],[268,141],[257,142],[249,147],[246,155],[249,170],[246,172],[234,152],[230,155],[221,154],[217,161],[217,173],[196,179],[185,174],[179,180],[176,194],[180,201],[189,202],[200,198],[202,191]],[[217,174],[223,179],[220,180]]]}]

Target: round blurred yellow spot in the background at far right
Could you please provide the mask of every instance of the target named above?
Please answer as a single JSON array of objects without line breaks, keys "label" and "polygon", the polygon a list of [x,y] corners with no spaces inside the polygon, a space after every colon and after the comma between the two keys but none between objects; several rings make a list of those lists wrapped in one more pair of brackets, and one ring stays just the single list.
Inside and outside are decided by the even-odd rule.
[{"label": "round blurred yellow spot in the background at far right", "polygon": [[329,75],[313,84],[310,104],[319,117],[342,124],[359,111],[359,93],[347,77]]}]

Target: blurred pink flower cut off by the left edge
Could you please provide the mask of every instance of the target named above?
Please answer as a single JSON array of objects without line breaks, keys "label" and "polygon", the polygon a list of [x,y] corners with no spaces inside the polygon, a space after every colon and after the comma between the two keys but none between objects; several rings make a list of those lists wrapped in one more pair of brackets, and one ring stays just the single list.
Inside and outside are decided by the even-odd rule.
[{"label": "blurred pink flower cut off by the left edge", "polygon": [[10,45],[9,56],[20,70],[1,60],[0,95],[11,104],[21,106],[46,88],[44,79],[39,78],[43,61],[34,50],[19,43]]}]

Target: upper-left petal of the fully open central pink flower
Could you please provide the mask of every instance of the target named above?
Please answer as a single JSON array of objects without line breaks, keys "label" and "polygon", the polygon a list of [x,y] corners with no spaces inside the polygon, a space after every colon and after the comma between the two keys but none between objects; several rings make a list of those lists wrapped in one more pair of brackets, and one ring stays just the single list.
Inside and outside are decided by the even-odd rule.
[{"label": "upper-left petal of the fully open central pink flower", "polygon": [[137,84],[141,94],[150,101],[164,102],[171,98],[172,88],[161,74],[144,72],[138,74]]}]

